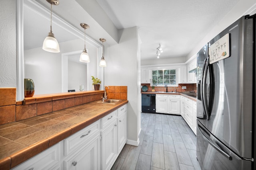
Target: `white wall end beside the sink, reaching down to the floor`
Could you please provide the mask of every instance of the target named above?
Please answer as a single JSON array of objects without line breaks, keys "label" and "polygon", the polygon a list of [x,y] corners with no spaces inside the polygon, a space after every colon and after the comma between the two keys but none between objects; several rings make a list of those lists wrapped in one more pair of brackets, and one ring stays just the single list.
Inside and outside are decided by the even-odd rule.
[{"label": "white wall end beside the sink, reaching down to the floor", "polygon": [[[140,102],[138,94],[140,82],[138,75],[140,66],[138,60],[138,30],[137,27],[122,29],[120,41],[116,45],[105,47],[106,86],[127,86],[128,94],[128,143],[138,144],[138,133],[140,120]],[[139,50],[140,51],[140,50]]]}]

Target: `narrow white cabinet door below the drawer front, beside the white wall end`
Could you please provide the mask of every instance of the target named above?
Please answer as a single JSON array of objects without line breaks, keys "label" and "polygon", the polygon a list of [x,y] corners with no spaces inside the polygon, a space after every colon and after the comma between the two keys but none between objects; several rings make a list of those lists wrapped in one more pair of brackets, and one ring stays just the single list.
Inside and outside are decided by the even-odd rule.
[{"label": "narrow white cabinet door below the drawer front, beside the white wall end", "polygon": [[118,154],[127,141],[127,113],[120,115],[117,119],[117,148]]}]

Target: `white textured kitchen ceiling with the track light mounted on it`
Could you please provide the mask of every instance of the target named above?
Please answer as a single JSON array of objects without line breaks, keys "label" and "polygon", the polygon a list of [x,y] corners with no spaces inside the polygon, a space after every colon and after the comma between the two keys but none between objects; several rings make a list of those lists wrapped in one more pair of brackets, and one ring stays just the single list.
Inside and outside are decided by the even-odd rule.
[{"label": "white textured kitchen ceiling with the track light mounted on it", "polygon": [[[185,57],[239,0],[97,0],[118,29],[137,26],[141,60]],[[191,56],[192,57],[192,56]]]}]

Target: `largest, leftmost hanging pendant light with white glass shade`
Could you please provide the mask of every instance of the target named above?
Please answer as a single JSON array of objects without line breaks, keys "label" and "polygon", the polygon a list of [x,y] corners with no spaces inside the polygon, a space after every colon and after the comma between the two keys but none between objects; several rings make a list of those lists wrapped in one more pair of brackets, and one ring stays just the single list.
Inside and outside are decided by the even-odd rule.
[{"label": "largest, leftmost hanging pendant light with white glass shade", "polygon": [[48,36],[44,39],[43,50],[51,53],[59,53],[60,52],[59,43],[57,39],[54,37],[54,34],[52,33],[52,5],[58,5],[59,0],[46,0],[46,1],[51,4],[51,26],[50,26],[50,32],[48,33]]}]

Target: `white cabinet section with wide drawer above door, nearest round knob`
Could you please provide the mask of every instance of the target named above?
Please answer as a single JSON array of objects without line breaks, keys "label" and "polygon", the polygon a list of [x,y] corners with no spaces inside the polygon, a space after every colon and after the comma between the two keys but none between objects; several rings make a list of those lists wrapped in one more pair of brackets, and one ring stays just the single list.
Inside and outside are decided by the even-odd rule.
[{"label": "white cabinet section with wide drawer above door, nearest round knob", "polygon": [[64,139],[64,156],[64,170],[100,170],[100,121]]}]

